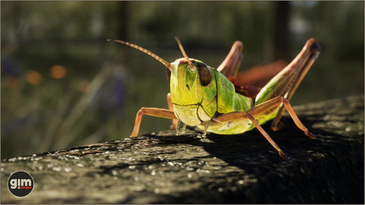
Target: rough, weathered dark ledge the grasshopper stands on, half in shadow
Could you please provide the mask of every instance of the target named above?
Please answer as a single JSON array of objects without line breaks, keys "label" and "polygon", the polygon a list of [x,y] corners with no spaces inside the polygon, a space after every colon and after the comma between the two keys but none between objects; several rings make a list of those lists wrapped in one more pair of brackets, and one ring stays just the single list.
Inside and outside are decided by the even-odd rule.
[{"label": "rough, weathered dark ledge the grasshopper stands on, half in shadow", "polygon": [[[310,139],[287,125],[215,135],[187,128],[1,162],[2,204],[364,204],[364,96],[294,107]],[[34,189],[13,196],[7,181],[27,171]]]}]

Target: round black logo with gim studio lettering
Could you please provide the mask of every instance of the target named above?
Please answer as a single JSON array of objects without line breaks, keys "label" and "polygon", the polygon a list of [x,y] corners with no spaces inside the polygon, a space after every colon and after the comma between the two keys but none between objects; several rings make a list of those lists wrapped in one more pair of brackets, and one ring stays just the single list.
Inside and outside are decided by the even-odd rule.
[{"label": "round black logo with gim studio lettering", "polygon": [[8,180],[9,191],[17,197],[25,197],[33,190],[34,181],[30,174],[25,171],[16,171]]}]

